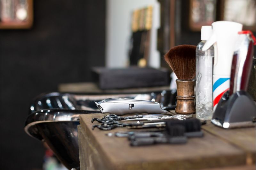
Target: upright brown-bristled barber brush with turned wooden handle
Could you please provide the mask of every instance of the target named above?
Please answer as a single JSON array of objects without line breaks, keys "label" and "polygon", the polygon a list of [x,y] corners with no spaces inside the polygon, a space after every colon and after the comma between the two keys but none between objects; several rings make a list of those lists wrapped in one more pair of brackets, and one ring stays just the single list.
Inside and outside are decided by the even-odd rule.
[{"label": "upright brown-bristled barber brush with turned wooden handle", "polygon": [[177,114],[196,113],[195,80],[193,80],[196,76],[196,46],[173,47],[164,55],[164,60],[178,78],[175,112]]}]

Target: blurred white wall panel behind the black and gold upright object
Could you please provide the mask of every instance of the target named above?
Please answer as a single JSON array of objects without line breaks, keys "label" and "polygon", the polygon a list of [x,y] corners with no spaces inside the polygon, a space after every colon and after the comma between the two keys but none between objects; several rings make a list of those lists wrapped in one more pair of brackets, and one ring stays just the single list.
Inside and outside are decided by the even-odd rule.
[{"label": "blurred white wall panel behind the black and gold upright object", "polygon": [[105,60],[107,67],[127,66],[129,41],[132,35],[132,12],[148,5],[153,5],[148,63],[151,67],[160,67],[160,53],[156,50],[157,29],[160,26],[160,5],[157,0],[107,0]]}]

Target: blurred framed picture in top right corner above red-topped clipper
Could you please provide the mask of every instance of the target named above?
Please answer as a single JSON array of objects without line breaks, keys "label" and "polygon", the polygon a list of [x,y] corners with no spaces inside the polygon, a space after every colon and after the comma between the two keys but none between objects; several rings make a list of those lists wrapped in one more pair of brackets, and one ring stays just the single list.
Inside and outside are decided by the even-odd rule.
[{"label": "blurred framed picture in top right corner above red-topped clipper", "polygon": [[220,20],[243,24],[243,30],[255,31],[255,0],[222,0]]}]

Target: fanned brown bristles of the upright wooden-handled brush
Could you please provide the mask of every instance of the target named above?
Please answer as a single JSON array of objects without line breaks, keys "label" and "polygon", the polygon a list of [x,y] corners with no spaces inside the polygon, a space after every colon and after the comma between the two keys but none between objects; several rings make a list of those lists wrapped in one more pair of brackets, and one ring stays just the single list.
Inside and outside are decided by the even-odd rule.
[{"label": "fanned brown bristles of the upright wooden-handled brush", "polygon": [[179,45],[164,55],[165,62],[180,80],[191,80],[196,76],[196,46]]}]

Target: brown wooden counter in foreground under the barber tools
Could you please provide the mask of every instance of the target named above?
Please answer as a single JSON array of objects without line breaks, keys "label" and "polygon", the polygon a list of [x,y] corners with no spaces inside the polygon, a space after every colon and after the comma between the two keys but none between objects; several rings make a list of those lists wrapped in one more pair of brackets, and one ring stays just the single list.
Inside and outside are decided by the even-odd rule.
[{"label": "brown wooden counter in foreground under the barber tools", "polygon": [[81,169],[255,169],[255,128],[221,129],[207,122],[204,137],[189,138],[187,144],[157,144],[132,147],[127,138],[108,137],[108,132],[92,130],[93,117],[80,115],[78,126]]}]

